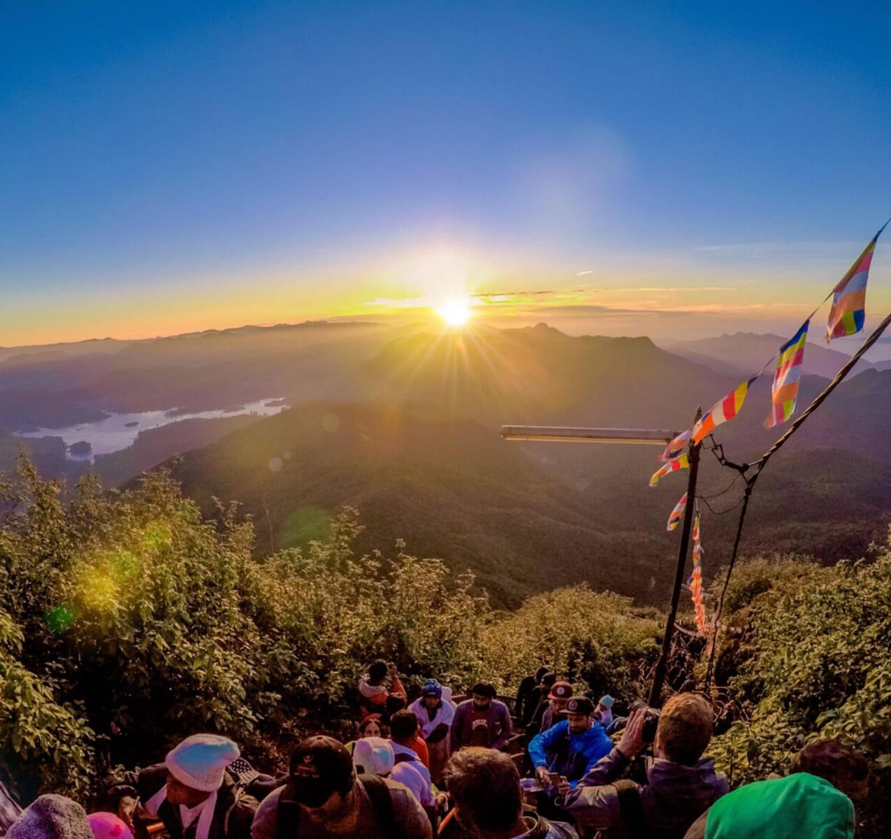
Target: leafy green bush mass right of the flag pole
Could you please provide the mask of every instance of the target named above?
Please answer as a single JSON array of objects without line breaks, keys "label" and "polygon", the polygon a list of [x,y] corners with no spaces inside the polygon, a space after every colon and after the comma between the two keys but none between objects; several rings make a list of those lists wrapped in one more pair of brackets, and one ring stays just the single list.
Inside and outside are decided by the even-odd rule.
[{"label": "leafy green bush mass right of the flag pole", "polygon": [[842,736],[879,770],[871,808],[887,804],[891,550],[833,568],[743,563],[727,603],[721,670],[742,719],[712,752],[732,783],[785,772],[808,740]]}]

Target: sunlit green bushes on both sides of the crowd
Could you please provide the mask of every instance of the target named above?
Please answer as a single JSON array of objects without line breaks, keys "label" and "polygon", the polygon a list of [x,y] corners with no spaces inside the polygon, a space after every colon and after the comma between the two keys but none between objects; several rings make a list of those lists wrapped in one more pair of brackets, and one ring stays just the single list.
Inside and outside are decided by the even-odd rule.
[{"label": "sunlit green bushes on both sides of the crowd", "polygon": [[[27,461],[2,487],[0,772],[24,797],[88,794],[108,767],[157,760],[200,729],[267,754],[311,728],[346,735],[377,657],[410,687],[435,675],[512,690],[547,662],[631,699],[658,645],[656,610],[584,584],[506,613],[472,574],[401,539],[392,557],[359,555],[349,508],[324,539],[257,557],[237,506],[205,519],[164,471],[125,491],[59,489]],[[887,802],[889,607],[888,548],[834,567],[740,563],[717,669],[739,720],[712,748],[733,784],[785,771],[810,737],[844,736]]]}]

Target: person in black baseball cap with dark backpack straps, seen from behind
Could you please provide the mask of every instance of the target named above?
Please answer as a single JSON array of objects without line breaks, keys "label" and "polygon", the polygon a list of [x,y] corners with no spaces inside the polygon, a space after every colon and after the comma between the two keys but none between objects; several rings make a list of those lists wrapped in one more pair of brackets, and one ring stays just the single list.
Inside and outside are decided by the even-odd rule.
[{"label": "person in black baseball cap with dark backpack straps, seen from behind", "polygon": [[[362,743],[358,741],[356,744]],[[356,775],[332,737],[312,736],[290,756],[288,781],[260,804],[252,839],[432,839],[413,794],[388,778]]]}]

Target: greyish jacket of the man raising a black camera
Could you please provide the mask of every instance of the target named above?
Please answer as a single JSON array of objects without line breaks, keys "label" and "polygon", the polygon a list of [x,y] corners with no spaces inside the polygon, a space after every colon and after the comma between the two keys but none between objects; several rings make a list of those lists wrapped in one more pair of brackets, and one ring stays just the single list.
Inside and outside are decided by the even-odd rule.
[{"label": "greyish jacket of the man raising a black camera", "polygon": [[[580,825],[608,830],[624,825],[619,793],[613,786],[629,761],[613,749],[558,804]],[[642,818],[648,836],[681,839],[691,824],[727,792],[727,778],[715,772],[711,758],[694,766],[648,758],[644,761],[646,783],[637,785]]]}]

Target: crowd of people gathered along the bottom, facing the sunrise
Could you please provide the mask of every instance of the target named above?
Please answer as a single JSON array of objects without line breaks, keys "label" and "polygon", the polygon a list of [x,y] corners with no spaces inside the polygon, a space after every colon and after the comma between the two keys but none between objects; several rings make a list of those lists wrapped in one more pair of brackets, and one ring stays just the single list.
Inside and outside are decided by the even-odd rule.
[{"label": "crowd of people gathered along the bottom, facing the sunrise", "polygon": [[308,737],[282,777],[197,734],[127,773],[104,810],[47,794],[10,812],[7,799],[0,835],[5,820],[5,839],[841,839],[866,795],[867,761],[837,740],[805,746],[787,777],[729,791],[695,691],[623,716],[542,668],[511,713],[485,683],[457,702],[428,679],[409,703],[388,662],[357,688],[356,739]]}]

